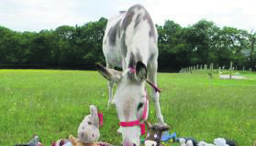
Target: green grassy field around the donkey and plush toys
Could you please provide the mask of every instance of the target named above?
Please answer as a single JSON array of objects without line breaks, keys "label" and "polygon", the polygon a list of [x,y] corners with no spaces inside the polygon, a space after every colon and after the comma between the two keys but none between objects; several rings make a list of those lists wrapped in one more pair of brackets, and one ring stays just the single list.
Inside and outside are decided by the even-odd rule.
[{"label": "green grassy field around the donkey and plush toys", "polygon": [[[159,73],[161,111],[170,132],[212,142],[218,137],[250,146],[256,141],[256,74],[248,80],[210,79],[205,74]],[[101,141],[119,144],[117,112],[106,110],[106,80],[95,71],[0,69],[0,145],[77,136],[95,104],[104,112]],[[155,122],[150,103],[149,120]]]}]

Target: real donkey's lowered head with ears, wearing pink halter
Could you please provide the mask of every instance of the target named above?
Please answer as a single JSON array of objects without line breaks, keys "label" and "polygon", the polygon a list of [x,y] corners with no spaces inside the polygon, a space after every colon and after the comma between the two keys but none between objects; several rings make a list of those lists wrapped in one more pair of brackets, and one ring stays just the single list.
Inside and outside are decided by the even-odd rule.
[{"label": "real donkey's lowered head with ears, wearing pink halter", "polygon": [[107,80],[117,83],[114,98],[120,120],[118,131],[122,133],[123,145],[138,146],[141,134],[139,121],[147,119],[149,110],[145,89],[146,66],[142,62],[137,62],[129,65],[129,68],[123,72],[105,68],[99,64],[96,68]]}]

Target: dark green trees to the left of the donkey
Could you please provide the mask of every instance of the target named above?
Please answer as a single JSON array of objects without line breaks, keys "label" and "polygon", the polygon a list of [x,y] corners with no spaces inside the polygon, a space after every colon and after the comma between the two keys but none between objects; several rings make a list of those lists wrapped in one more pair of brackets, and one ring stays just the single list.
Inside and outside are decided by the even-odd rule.
[{"label": "dark green trees to the left of the donkey", "polygon": [[0,26],[0,68],[95,68],[102,53],[106,18],[83,26],[15,32]]}]

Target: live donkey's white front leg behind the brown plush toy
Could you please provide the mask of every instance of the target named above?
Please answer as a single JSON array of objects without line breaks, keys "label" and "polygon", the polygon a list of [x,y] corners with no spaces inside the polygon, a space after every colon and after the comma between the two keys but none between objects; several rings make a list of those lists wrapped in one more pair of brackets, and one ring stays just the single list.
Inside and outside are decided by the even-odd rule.
[{"label": "live donkey's white front leg behind the brown plush toy", "polygon": [[[150,82],[152,82],[156,87],[157,87],[157,61],[152,63],[149,68],[149,79]],[[155,91],[155,89],[152,88],[152,94],[151,94],[151,99],[153,100],[155,104],[155,110],[156,110],[156,116],[158,119],[158,122],[160,122],[162,125],[167,125],[163,121],[163,117],[161,115],[161,107],[159,103],[159,92]]]}]

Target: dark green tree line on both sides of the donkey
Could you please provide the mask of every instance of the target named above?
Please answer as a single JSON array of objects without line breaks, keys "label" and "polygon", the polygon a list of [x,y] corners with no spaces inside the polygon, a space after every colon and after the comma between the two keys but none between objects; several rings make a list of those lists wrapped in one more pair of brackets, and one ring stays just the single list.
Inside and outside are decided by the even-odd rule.
[{"label": "dark green tree line on both sides of the donkey", "polygon": [[[0,26],[0,68],[94,69],[95,62],[105,64],[106,22],[102,17],[83,26],[59,26],[39,33]],[[185,27],[172,20],[156,26],[160,71],[210,63],[228,67],[230,61],[240,68],[256,66],[255,31],[220,28],[206,19]]]}]

